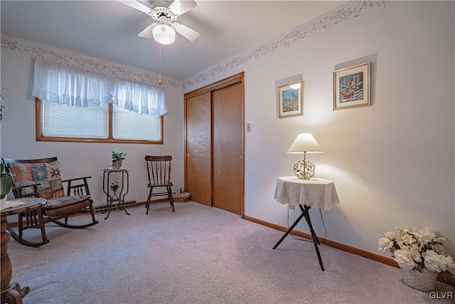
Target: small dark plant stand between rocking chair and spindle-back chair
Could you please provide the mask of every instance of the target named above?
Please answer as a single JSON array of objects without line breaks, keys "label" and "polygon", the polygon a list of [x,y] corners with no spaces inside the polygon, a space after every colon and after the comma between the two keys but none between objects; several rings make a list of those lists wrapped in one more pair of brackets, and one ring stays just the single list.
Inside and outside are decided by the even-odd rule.
[{"label": "small dark plant stand between rocking chair and spindle-back chair", "polygon": [[[125,195],[127,195],[129,192],[129,171],[124,168],[114,169],[112,167],[105,168],[105,169],[103,169],[103,171],[104,171],[104,173],[102,175],[102,192],[104,192],[106,194],[106,201],[107,201],[107,204],[106,204],[107,216],[105,217],[105,219],[107,219],[109,217],[109,214],[111,213],[111,209],[112,209],[112,202],[114,202],[114,201],[118,201],[120,209],[123,209],[126,214],[131,215],[128,213],[127,209],[125,208]],[[122,187],[120,188],[120,192],[119,192],[117,198],[113,197],[109,192],[109,189],[110,189],[109,177],[110,177],[110,174],[112,174],[113,172],[122,173]],[[127,177],[126,178],[126,187],[125,187],[125,176]]]}]

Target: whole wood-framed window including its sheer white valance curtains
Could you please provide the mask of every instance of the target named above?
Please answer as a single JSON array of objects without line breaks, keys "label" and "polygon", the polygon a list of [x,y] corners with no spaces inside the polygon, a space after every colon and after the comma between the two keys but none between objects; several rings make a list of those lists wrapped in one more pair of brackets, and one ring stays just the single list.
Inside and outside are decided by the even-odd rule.
[{"label": "whole wood-framed window including its sheer white valance curtains", "polygon": [[164,89],[36,58],[36,140],[163,143]]}]

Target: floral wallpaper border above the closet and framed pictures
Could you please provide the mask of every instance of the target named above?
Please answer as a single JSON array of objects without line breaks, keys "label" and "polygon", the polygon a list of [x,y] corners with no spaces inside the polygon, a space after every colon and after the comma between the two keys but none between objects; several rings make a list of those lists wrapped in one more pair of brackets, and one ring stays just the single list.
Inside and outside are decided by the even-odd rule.
[{"label": "floral wallpaper border above the closet and framed pictures", "polygon": [[223,63],[222,65],[217,65],[215,66],[215,68],[211,68],[210,70],[207,70],[204,73],[200,73],[193,79],[183,81],[183,88],[184,89],[190,88],[193,85],[199,84],[203,80],[207,80],[208,78],[214,77],[227,70],[232,70],[233,68],[236,68],[238,65],[247,64],[252,59],[259,59],[259,57],[277,51],[279,48],[289,47],[291,46],[292,43],[309,37],[313,33],[316,33],[317,31],[323,30],[328,31],[332,26],[335,26],[338,23],[360,16],[360,13],[365,9],[379,8],[381,6],[385,8],[389,1],[390,0],[381,1],[369,0],[363,1],[355,6],[350,6],[346,9],[338,9],[337,11],[334,11],[333,13],[325,16],[321,21],[317,21],[315,23],[310,24],[309,26],[305,26],[302,28],[296,28],[293,31],[282,36],[282,38],[279,38],[279,40],[277,41],[273,41],[271,43],[259,46],[258,48],[255,49],[255,51],[252,51],[247,55],[235,57],[231,61]]}]

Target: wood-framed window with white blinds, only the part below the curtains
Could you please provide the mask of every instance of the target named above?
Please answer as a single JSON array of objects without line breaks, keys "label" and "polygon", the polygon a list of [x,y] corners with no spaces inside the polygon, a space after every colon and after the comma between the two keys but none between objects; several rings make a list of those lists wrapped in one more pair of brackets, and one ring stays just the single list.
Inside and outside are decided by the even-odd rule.
[{"label": "wood-framed window with white blinds, only the part below the curtains", "polygon": [[112,103],[73,107],[36,98],[36,140],[163,143],[163,116],[140,115]]}]

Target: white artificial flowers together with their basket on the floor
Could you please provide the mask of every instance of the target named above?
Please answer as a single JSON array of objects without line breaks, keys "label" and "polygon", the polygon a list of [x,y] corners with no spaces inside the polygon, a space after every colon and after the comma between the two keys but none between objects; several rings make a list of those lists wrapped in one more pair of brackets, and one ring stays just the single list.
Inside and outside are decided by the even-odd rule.
[{"label": "white artificial flowers together with their basket on the floor", "polygon": [[380,251],[392,253],[407,285],[431,291],[438,273],[446,281],[453,280],[449,269],[455,269],[454,259],[439,248],[446,238],[436,237],[431,228],[396,229],[398,235],[393,231],[386,232],[385,237],[379,239],[378,246]]}]

